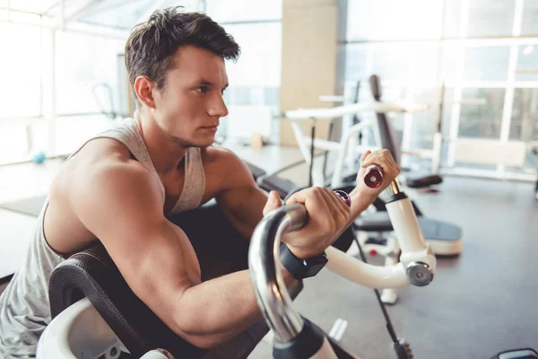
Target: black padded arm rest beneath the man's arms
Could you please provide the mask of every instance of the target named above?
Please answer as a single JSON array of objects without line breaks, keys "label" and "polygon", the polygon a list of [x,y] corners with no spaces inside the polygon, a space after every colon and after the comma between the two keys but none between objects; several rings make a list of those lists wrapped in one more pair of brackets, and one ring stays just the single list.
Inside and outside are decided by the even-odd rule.
[{"label": "black padded arm rest beneath the man's arms", "polygon": [[[203,281],[247,268],[248,241],[235,232],[217,206],[197,208],[170,221],[177,223],[192,242]],[[291,297],[301,289],[302,282],[295,282]],[[213,349],[193,346],[170,330],[131,291],[100,242],[74,254],[53,271],[49,281],[52,317],[84,296],[136,358],[158,347],[177,358],[246,358],[268,332],[265,321],[260,320]]]}]

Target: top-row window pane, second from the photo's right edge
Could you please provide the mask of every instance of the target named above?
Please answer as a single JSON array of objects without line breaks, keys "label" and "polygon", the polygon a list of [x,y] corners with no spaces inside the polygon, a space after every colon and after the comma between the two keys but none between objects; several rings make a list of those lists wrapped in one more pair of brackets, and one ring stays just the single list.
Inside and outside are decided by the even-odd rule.
[{"label": "top-row window pane, second from the photo's right edge", "polygon": [[470,0],[468,37],[509,36],[514,23],[514,0]]}]

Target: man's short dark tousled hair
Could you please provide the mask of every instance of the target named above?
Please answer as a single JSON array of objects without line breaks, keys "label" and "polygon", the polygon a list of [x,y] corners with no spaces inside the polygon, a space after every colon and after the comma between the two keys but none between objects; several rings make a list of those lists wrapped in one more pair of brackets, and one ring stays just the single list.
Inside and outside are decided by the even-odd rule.
[{"label": "man's short dark tousled hair", "polygon": [[146,75],[162,89],[166,73],[173,65],[172,56],[181,45],[195,45],[227,60],[239,57],[239,45],[221,25],[204,13],[184,13],[181,8],[157,10],[147,22],[134,26],[125,48],[132,87],[136,77]]}]

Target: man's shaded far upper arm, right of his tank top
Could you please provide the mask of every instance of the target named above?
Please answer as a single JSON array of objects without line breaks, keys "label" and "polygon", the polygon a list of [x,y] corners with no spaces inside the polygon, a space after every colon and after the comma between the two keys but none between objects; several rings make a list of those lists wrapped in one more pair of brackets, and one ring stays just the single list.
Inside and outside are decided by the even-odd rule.
[{"label": "man's shaded far upper arm, right of his tank top", "polygon": [[252,173],[235,154],[222,155],[221,172],[223,180],[217,203],[239,233],[250,239],[263,217],[267,195],[257,187]]}]

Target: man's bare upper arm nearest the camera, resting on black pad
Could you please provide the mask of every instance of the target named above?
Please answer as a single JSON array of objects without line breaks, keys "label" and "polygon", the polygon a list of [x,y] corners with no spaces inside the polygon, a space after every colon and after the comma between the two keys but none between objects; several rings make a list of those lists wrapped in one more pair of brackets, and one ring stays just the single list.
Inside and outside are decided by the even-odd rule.
[{"label": "man's bare upper arm nearest the camera, resting on black pad", "polygon": [[101,168],[74,186],[72,202],[82,223],[105,246],[133,292],[169,328],[178,297],[200,283],[186,234],[164,217],[161,188],[145,169]]}]

